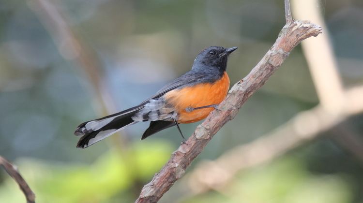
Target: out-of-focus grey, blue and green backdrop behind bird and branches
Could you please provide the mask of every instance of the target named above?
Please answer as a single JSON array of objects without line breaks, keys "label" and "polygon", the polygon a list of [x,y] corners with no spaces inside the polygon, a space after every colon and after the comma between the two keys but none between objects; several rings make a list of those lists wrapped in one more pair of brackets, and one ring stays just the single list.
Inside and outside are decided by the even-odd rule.
[{"label": "out-of-focus grey, blue and green backdrop behind bird and branches", "polygon": [[[316,7],[344,88],[362,84],[363,1],[319,0]],[[81,150],[76,126],[138,104],[211,45],[239,47],[227,68],[234,84],[284,25],[283,0],[0,0],[0,155],[19,167],[39,203],[133,202],[179,146],[178,131],[140,141],[148,123],[139,123]],[[318,103],[299,45],[187,175]],[[197,124],[181,130],[189,135]],[[344,142],[348,133],[358,140],[355,153]],[[195,191],[186,175],[160,202],[363,203],[362,133],[358,113],[218,189]],[[0,202],[24,201],[1,171]]]}]

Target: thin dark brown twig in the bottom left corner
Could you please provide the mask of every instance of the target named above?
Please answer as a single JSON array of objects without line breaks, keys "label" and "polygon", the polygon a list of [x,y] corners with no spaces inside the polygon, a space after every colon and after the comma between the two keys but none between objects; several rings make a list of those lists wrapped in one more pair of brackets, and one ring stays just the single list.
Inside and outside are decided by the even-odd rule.
[{"label": "thin dark brown twig in the bottom left corner", "polygon": [[2,158],[0,156],[0,165],[5,169],[5,171],[15,180],[15,182],[19,185],[21,191],[23,191],[25,198],[27,199],[27,203],[35,203],[35,194],[31,191],[29,185],[24,180],[24,178],[20,175],[17,167],[11,164],[8,160]]}]

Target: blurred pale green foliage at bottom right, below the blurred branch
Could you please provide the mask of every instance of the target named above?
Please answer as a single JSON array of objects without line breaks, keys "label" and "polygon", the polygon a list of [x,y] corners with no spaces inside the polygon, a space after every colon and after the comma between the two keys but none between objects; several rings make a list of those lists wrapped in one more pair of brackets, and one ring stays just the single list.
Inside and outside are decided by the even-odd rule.
[{"label": "blurred pale green foliage at bottom right, below the blurred branch", "polygon": [[351,186],[341,175],[317,175],[298,157],[247,170],[223,189],[185,203],[349,203]]}]

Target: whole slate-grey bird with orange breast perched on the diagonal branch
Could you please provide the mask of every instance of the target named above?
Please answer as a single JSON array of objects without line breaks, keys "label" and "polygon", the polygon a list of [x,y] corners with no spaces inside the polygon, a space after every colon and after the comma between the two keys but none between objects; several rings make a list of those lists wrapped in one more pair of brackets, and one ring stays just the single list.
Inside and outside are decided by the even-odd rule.
[{"label": "whole slate-grey bird with orange breast perched on the diagonal branch", "polygon": [[202,50],[192,69],[162,87],[140,104],[116,114],[80,124],[76,147],[86,148],[137,122],[151,121],[141,140],[172,126],[206,118],[227,96],[227,58],[238,47],[210,46]]}]

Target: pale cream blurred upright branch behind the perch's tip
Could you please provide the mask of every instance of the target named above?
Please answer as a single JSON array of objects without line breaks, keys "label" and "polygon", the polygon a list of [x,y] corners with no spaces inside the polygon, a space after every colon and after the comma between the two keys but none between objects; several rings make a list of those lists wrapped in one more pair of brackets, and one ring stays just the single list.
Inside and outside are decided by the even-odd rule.
[{"label": "pale cream blurred upright branch behind the perch's tip", "polygon": [[[326,23],[318,7],[318,0],[292,0],[292,9],[298,19],[309,17],[323,28]],[[302,51],[308,63],[320,105],[327,111],[337,112],[344,101],[343,84],[330,43],[329,30],[321,36],[302,43]]]}]

